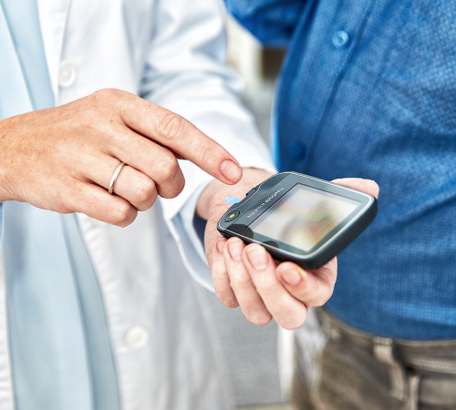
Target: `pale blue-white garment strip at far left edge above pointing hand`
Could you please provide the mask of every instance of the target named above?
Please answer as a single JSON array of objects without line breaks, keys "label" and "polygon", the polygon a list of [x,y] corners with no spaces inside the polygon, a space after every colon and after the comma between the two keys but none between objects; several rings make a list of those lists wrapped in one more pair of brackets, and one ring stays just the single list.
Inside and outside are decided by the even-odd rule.
[{"label": "pale blue-white garment strip at far left edge above pointing hand", "polygon": [[[0,119],[32,111],[15,44],[0,1]],[[8,97],[9,96],[9,97]],[[10,96],[15,96],[11,98]]]}]

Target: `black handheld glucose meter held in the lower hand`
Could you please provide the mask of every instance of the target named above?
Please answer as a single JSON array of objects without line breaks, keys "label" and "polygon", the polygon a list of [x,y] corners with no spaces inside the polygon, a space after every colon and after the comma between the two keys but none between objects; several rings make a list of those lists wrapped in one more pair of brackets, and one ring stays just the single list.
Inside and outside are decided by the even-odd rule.
[{"label": "black handheld glucose meter held in the lower hand", "polygon": [[278,261],[316,269],[334,258],[377,215],[377,200],[323,179],[282,172],[265,179],[217,224],[225,237],[259,243]]}]

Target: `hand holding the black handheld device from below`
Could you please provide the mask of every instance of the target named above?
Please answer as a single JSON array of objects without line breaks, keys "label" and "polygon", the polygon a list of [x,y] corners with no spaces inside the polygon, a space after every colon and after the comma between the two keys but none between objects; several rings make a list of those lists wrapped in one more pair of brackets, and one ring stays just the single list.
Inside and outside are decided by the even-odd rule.
[{"label": "hand holding the black handheld device from below", "polygon": [[[216,229],[217,221],[230,207],[228,195],[244,198],[255,185],[272,174],[244,169],[244,176],[232,187],[212,181],[202,192],[197,213],[207,220],[204,246],[217,297],[224,305],[241,306],[245,317],[262,325],[275,322],[285,329],[297,329],[306,322],[307,308],[322,306],[331,297],[337,279],[337,258],[315,271],[306,271],[291,261],[277,262],[258,244],[245,245],[239,238],[226,240]],[[373,180],[335,179],[340,185],[378,197]]]}]

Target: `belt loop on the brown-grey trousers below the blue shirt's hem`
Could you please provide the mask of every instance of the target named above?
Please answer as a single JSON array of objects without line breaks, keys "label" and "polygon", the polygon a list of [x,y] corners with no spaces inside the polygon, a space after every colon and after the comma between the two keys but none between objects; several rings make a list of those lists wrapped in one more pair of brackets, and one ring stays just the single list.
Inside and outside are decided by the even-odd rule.
[{"label": "belt loop on the brown-grey trousers below the blue shirt's hem", "polygon": [[372,342],[378,362],[388,364],[389,394],[403,401],[407,395],[407,376],[403,366],[394,358],[393,340],[389,337],[373,337]]}]

